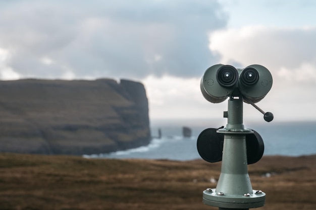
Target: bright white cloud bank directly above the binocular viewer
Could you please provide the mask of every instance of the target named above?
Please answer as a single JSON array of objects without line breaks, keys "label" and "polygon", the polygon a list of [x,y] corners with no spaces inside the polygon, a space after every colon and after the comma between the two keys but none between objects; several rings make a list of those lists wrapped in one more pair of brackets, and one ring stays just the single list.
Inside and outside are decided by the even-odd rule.
[{"label": "bright white cloud bank directly above the binocular viewer", "polygon": [[210,49],[221,55],[221,62],[238,61],[245,67],[258,63],[273,72],[291,71],[303,64],[316,64],[316,28],[273,28],[247,26],[210,35]]}]

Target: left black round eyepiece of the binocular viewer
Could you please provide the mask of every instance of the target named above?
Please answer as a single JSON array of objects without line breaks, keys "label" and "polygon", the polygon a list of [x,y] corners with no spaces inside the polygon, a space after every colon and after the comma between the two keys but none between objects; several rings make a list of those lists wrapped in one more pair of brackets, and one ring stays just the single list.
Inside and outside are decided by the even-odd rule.
[{"label": "left black round eyepiece of the binocular viewer", "polygon": [[223,65],[218,69],[216,78],[223,88],[233,87],[238,81],[237,69],[231,65]]}]

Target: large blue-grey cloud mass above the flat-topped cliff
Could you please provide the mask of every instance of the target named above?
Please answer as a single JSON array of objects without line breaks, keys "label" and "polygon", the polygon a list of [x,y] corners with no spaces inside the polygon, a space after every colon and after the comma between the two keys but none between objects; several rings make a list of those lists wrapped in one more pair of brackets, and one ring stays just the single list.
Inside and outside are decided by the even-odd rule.
[{"label": "large blue-grey cloud mass above the flat-topped cliff", "polygon": [[207,34],[226,23],[209,0],[6,1],[0,48],[21,78],[195,77],[218,60]]}]

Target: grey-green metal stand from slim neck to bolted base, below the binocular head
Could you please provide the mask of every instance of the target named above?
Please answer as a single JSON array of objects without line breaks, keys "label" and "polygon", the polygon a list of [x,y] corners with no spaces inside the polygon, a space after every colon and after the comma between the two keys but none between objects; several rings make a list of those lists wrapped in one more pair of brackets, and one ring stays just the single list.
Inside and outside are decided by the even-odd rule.
[{"label": "grey-green metal stand from slim neck to bolted base, below the binocular head", "polygon": [[221,175],[215,189],[203,191],[203,203],[220,210],[264,206],[266,194],[252,189],[248,175],[246,134],[252,131],[243,125],[242,97],[230,96],[224,117],[228,118],[228,123],[218,131],[224,134]]}]

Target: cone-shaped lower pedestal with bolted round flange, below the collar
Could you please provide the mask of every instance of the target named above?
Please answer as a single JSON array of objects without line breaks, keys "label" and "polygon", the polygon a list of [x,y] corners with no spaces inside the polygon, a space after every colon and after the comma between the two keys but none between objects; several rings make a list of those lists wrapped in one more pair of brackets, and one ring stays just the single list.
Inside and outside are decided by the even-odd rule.
[{"label": "cone-shaped lower pedestal with bolted round flange, below the collar", "polygon": [[203,203],[221,208],[255,208],[265,205],[266,194],[251,187],[246,152],[243,132],[225,134],[219,182],[216,189],[203,191]]}]

